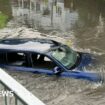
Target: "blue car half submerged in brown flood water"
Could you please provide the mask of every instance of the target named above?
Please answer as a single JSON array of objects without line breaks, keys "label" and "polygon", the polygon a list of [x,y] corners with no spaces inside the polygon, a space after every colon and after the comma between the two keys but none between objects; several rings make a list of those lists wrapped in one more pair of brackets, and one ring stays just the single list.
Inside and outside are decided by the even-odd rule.
[{"label": "blue car half submerged in brown flood water", "polygon": [[50,39],[0,41],[0,67],[7,70],[99,81],[101,78],[98,74],[82,70],[90,63],[90,54],[74,51]]}]

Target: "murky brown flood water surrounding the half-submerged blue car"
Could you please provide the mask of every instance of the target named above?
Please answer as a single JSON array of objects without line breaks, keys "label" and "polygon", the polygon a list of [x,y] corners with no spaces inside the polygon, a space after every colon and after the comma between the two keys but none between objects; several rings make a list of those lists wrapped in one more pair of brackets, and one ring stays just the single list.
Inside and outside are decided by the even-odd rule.
[{"label": "murky brown flood water surrounding the half-submerged blue car", "polygon": [[[90,68],[92,71],[105,71],[104,0],[7,0],[4,4],[0,1],[0,11],[20,28],[24,26],[50,36],[71,38],[75,50],[92,53],[98,60]],[[105,104],[104,84],[9,73],[47,105]]]}]

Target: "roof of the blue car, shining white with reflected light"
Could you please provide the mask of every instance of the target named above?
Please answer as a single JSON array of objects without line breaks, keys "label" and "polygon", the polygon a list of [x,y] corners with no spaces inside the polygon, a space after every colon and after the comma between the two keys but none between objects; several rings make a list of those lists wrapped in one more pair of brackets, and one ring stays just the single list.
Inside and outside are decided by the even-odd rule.
[{"label": "roof of the blue car, shining white with reflected light", "polygon": [[61,43],[56,42],[54,40],[39,38],[11,38],[0,40],[0,49],[7,51],[15,50],[45,53],[60,45]]}]

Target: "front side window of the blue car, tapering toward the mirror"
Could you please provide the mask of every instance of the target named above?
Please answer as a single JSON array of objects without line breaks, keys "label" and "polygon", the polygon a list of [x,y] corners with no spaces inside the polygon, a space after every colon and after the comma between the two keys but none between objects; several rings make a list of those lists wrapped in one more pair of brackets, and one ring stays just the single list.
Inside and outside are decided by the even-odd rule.
[{"label": "front side window of the blue car, tapering toward the mirror", "polygon": [[42,54],[31,54],[31,59],[34,68],[54,69],[57,66],[50,58]]}]

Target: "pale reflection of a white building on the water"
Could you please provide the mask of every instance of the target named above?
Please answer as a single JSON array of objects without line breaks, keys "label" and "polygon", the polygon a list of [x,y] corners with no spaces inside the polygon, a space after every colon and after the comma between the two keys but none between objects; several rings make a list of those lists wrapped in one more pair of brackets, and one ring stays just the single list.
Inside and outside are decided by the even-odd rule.
[{"label": "pale reflection of a white building on the water", "polygon": [[40,30],[69,31],[78,20],[78,13],[70,2],[66,8],[63,0],[13,0],[13,16]]}]

